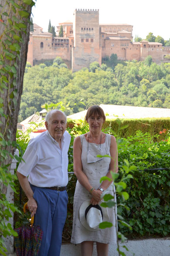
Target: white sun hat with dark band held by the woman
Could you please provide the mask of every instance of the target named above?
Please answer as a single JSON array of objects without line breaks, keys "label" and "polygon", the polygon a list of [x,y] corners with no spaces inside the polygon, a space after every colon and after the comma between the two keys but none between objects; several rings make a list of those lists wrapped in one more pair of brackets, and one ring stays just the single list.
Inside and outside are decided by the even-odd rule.
[{"label": "white sun hat with dark band held by the woman", "polygon": [[79,210],[79,219],[82,225],[90,231],[99,230],[99,224],[103,221],[109,221],[108,210],[99,204],[92,205],[90,200],[82,203]]}]

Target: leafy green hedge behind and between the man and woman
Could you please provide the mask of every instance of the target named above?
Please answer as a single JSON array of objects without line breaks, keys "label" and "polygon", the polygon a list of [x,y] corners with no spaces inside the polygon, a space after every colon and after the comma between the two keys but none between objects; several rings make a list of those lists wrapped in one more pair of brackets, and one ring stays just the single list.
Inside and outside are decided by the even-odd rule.
[{"label": "leafy green hedge behind and between the man and woman", "polygon": [[[117,120],[121,123],[120,120]],[[63,232],[63,241],[69,242],[72,230],[73,217],[73,196],[76,177],[73,174],[73,153],[72,146],[74,138],[88,131],[88,125],[80,121],[72,128],[68,127],[71,134],[71,146],[68,152],[68,217]],[[114,133],[108,126],[103,130],[105,133]],[[162,138],[160,142],[154,142],[154,137]],[[20,144],[21,156],[24,153],[27,139],[17,136]],[[141,236],[166,236],[170,234],[170,131],[164,129],[160,134],[151,136],[149,133],[136,131],[136,135],[127,138],[116,136],[119,150],[119,182],[123,172],[122,169],[129,168],[129,174],[133,179],[126,179],[126,191],[129,193],[129,200],[123,202],[122,197],[117,196],[118,214],[131,224],[131,231],[126,225],[119,224],[119,231],[127,237]],[[126,160],[125,160],[126,159]],[[129,163],[129,166],[128,164]],[[130,168],[133,167],[133,168]],[[16,190],[19,191],[18,184]],[[23,195],[23,194],[22,194]],[[27,200],[24,198],[24,200]],[[15,199],[18,205],[18,196]],[[25,203],[22,202],[22,205]],[[121,204],[125,203],[126,210]],[[17,215],[18,216],[18,215]],[[17,225],[20,221],[17,220]],[[21,218],[21,221],[23,219]],[[25,221],[25,218],[24,218]]]}]

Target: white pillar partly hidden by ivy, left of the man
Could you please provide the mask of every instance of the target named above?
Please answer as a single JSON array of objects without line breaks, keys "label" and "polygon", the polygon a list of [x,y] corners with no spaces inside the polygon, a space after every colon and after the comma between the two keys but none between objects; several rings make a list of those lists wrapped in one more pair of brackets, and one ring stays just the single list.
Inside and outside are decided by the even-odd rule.
[{"label": "white pillar partly hidden by ivy, left of the man", "polygon": [[[19,156],[19,151],[18,149],[16,149],[15,154],[17,156]],[[17,166],[17,160],[14,158],[12,160],[12,163],[10,165],[10,173],[14,174],[14,169]],[[7,200],[9,201],[9,203],[14,203],[14,191],[11,189],[10,186],[7,187]],[[14,228],[14,213],[12,211],[11,215],[12,217],[9,218],[9,223],[11,224],[12,228]],[[14,237],[13,236],[7,236],[6,238],[4,238],[4,242],[5,245],[7,247],[7,255],[8,256],[16,256],[16,254],[14,253]]]}]

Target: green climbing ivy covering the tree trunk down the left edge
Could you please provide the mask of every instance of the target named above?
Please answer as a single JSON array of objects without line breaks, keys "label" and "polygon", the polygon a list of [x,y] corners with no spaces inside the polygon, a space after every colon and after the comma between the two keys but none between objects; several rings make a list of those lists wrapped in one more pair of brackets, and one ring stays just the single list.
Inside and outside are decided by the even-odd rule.
[{"label": "green climbing ivy covering the tree trunk down the left edge", "polygon": [[[32,0],[0,0],[0,254],[6,255],[3,237],[16,235],[8,222],[18,211],[6,198],[7,186],[14,189],[11,175],[16,148],[15,135],[24,69],[27,59]],[[14,155],[14,156],[13,156]]]}]

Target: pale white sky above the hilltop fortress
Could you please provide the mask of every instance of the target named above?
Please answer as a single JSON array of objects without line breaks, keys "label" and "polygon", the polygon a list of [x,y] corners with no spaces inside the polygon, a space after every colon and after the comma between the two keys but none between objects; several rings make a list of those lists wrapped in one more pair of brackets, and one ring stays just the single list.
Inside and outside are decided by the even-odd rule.
[{"label": "pale white sky above the hilltop fortress", "polygon": [[99,24],[133,25],[135,36],[160,35],[170,39],[170,0],[37,0],[32,8],[33,22],[48,31],[51,26],[73,21],[75,9],[99,9]]}]

